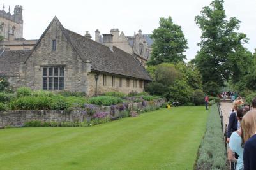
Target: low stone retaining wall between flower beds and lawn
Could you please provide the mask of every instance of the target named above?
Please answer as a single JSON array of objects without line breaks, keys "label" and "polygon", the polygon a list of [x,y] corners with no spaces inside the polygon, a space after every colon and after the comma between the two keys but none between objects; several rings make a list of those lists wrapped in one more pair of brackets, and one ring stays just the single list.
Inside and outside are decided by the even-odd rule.
[{"label": "low stone retaining wall between flower beds and lawn", "polygon": [[[154,101],[145,101],[139,103],[126,103],[126,110],[134,108],[142,109],[146,106],[162,106],[165,99],[155,99]],[[118,106],[98,106],[96,112],[107,112],[112,118],[119,116]],[[84,110],[17,110],[17,111],[0,111],[0,127],[22,127],[26,122],[31,120],[40,120],[41,122],[83,122],[88,118]]]}]

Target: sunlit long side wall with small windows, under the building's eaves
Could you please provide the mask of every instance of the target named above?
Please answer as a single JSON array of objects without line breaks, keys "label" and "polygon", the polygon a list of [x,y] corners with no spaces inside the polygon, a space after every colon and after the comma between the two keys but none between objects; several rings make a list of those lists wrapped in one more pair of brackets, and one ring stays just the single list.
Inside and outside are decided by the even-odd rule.
[{"label": "sunlit long side wall with small windows, under the building's eaves", "polygon": [[[95,94],[95,74],[96,73],[89,73],[88,75],[88,83],[89,83],[89,89],[88,89],[88,95],[93,96]],[[128,94],[132,91],[137,92],[143,92],[144,91],[144,83],[142,83],[142,87],[139,86],[139,81],[137,80],[137,87],[133,87],[133,80],[131,78],[130,80],[130,87],[126,87],[126,77],[122,76],[114,76],[115,77],[115,85],[112,86],[112,76],[109,74],[106,74],[107,76],[107,85],[103,85],[103,74],[99,74],[98,76],[98,88],[97,93],[103,94],[105,92],[123,92],[125,94]],[[122,85],[120,86],[120,78],[122,79]]]}]

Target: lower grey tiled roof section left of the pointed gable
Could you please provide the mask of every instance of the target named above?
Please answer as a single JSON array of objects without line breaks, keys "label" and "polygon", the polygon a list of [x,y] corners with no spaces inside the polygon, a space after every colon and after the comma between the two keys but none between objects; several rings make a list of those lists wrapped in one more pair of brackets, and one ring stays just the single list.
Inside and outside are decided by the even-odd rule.
[{"label": "lower grey tiled roof section left of the pointed gable", "polygon": [[0,52],[0,74],[19,73],[19,64],[26,60],[31,50],[3,50]]}]

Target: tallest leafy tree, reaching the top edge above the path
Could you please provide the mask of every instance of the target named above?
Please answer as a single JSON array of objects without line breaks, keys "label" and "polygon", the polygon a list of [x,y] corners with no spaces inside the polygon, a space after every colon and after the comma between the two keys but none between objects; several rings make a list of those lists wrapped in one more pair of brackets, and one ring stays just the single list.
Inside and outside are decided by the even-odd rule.
[{"label": "tallest leafy tree, reaching the top edge above the path", "polygon": [[229,81],[230,76],[236,76],[236,69],[232,69],[230,60],[239,58],[243,43],[248,42],[246,34],[235,32],[239,29],[239,20],[235,17],[225,20],[223,2],[212,1],[195,17],[202,30],[198,43],[201,49],[195,57],[195,63],[202,74],[203,83],[215,82],[219,87]]}]

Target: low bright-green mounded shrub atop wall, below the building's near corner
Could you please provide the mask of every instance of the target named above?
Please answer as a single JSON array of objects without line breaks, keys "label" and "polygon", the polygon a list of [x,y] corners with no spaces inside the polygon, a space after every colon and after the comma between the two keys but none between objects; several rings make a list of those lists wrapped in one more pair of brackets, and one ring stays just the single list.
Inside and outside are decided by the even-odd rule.
[{"label": "low bright-green mounded shrub atop wall, below the building's near corner", "polygon": [[97,96],[89,99],[89,103],[100,105],[100,106],[110,106],[112,104],[118,104],[121,102],[122,102],[122,99],[114,96]]}]

